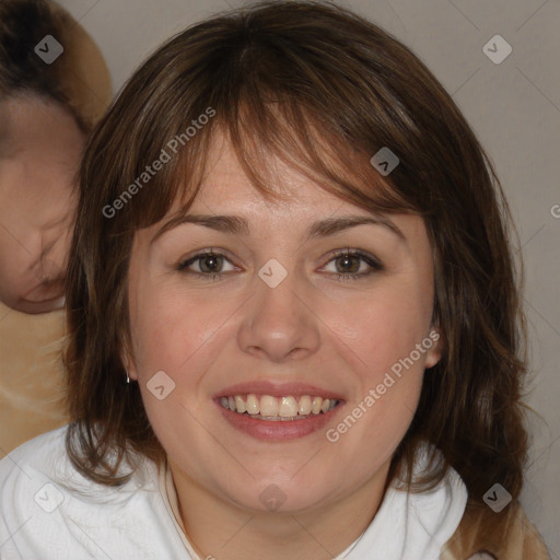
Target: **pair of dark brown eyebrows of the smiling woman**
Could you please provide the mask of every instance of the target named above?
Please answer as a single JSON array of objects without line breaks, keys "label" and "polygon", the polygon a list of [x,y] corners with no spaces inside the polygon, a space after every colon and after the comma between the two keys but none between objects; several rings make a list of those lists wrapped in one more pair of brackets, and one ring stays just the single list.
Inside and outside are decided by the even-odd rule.
[{"label": "pair of dark brown eyebrows of the smiling woman", "polygon": [[[180,214],[172,218],[155,233],[150,244],[154,243],[158,237],[161,237],[165,232],[173,230],[179,225],[192,223],[210,228],[223,233],[231,233],[235,235],[249,235],[249,224],[245,218],[238,215],[211,215],[211,214]],[[336,233],[355,228],[358,225],[374,224],[383,225],[397,235],[400,241],[407,242],[405,234],[401,230],[388,218],[376,214],[372,217],[365,215],[342,215],[339,218],[326,218],[312,223],[306,231],[305,240],[316,237],[327,237]]]}]

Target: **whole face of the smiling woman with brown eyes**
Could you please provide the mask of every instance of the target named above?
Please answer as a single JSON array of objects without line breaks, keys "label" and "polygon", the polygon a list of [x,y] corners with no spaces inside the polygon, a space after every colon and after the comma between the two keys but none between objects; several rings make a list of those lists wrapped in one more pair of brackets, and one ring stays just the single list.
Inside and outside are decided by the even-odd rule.
[{"label": "whole face of the smiling woman with brown eyes", "polygon": [[[267,202],[228,143],[211,160],[188,215],[135,237],[129,374],[176,481],[257,511],[335,503],[385,476],[439,360],[423,222],[374,217],[278,161],[290,196]],[[314,413],[315,397],[339,404]],[[257,406],[275,419],[241,412]]]}]

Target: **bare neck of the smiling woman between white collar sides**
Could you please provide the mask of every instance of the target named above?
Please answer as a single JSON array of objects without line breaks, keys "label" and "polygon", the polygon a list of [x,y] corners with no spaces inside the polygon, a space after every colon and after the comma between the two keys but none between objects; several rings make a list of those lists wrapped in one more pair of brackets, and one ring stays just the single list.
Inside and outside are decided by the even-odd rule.
[{"label": "bare neck of the smiling woman between white collar sides", "polygon": [[170,466],[187,538],[201,559],[323,560],[336,558],[371,524],[389,464],[337,502],[289,513],[244,510]]}]

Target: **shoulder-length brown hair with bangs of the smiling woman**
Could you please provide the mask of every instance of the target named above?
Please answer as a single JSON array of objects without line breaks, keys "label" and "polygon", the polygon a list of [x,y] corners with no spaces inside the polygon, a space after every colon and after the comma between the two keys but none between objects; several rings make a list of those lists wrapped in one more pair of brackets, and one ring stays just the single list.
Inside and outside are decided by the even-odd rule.
[{"label": "shoulder-length brown hair with bangs of the smiling woman", "polygon": [[[179,155],[118,213],[104,215],[209,107],[217,116],[185,137]],[[424,65],[372,23],[325,2],[265,2],[191,26],[132,75],[91,139],[68,277],[67,450],[74,465],[93,480],[119,483],[116,465],[130,457],[127,448],[162,457],[138,386],[124,383],[128,260],[137,229],[161,220],[174,200],[188,209],[218,129],[267,197],[278,195],[262,165],[273,153],[362,208],[423,218],[443,355],[424,377],[389,478],[410,472],[428,440],[445,460],[434,460],[416,489],[434,485],[451,465],[474,501],[497,481],[518,497],[526,335],[502,188]],[[400,159],[385,178],[370,164],[383,147]]]}]

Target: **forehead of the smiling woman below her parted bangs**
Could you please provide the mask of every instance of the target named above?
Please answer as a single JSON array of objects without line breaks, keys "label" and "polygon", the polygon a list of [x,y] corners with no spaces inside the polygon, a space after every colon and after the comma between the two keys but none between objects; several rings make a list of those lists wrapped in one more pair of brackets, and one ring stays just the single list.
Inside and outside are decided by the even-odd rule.
[{"label": "forehead of the smiling woman below her parted bangs", "polygon": [[305,238],[374,224],[382,226],[385,235],[390,233],[405,244],[408,244],[405,232],[412,237],[421,234],[423,221],[418,215],[397,213],[389,218],[330,192],[277,156],[262,162],[266,170],[259,170],[259,174],[268,177],[266,187],[273,198],[255,187],[232,144],[220,137],[212,142],[207,171],[188,207],[184,200],[176,200],[164,218],[144,229],[141,236],[147,235],[151,244],[166,232],[188,224],[236,235],[252,235],[257,230],[259,235],[265,231],[271,234],[275,230],[283,232],[282,235],[290,231],[300,235],[300,231],[304,231],[302,235]]}]

